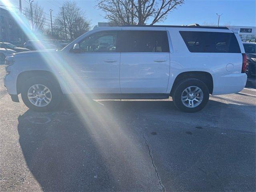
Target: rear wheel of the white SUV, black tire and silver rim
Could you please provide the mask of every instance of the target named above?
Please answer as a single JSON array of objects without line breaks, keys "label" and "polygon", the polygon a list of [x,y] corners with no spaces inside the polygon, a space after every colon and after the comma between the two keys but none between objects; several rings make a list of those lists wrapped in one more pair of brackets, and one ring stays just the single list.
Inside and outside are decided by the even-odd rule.
[{"label": "rear wheel of the white SUV, black tire and silver rim", "polygon": [[174,105],[184,112],[197,112],[207,104],[209,89],[201,80],[188,78],[175,86],[172,100]]}]

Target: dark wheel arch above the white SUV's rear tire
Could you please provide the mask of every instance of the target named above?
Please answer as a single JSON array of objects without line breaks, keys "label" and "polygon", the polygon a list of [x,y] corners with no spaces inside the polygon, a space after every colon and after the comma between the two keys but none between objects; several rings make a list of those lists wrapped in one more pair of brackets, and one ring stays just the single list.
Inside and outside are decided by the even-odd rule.
[{"label": "dark wheel arch above the white SUV's rear tire", "polygon": [[213,91],[213,78],[212,75],[209,72],[206,71],[188,71],[188,72],[182,72],[176,76],[174,83],[172,84],[172,89],[170,92],[170,96],[172,96],[174,89],[176,88],[178,82],[181,80],[184,80],[186,78],[196,78],[201,80],[206,84],[206,86],[209,89],[210,94],[212,94]]}]

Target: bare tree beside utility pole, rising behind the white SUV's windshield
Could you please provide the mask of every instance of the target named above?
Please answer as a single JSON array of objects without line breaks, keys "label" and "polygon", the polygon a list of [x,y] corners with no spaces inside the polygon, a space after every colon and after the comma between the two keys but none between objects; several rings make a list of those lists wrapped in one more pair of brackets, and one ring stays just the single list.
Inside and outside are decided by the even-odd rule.
[{"label": "bare tree beside utility pole, rising behind the white SUV's windshield", "polygon": [[[90,21],[86,20],[84,12],[80,10],[75,1],[67,0],[63,7],[68,38],[73,40],[90,29]],[[64,18],[62,9],[60,9],[54,20],[54,31],[61,37],[64,37],[65,34]]]}]

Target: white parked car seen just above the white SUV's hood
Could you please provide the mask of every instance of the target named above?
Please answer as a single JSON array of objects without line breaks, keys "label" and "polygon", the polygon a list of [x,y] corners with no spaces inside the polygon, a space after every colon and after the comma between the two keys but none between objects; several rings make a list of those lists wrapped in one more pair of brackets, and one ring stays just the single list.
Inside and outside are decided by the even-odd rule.
[{"label": "white parked car seen just above the white SUV's hood", "polygon": [[56,45],[40,40],[29,40],[24,43],[24,48],[29,50],[57,49]]}]

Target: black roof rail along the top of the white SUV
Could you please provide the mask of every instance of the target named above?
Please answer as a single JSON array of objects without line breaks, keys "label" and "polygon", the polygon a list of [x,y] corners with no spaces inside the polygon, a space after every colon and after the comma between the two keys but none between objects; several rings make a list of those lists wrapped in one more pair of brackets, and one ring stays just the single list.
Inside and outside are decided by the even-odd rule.
[{"label": "black roof rail along the top of the white SUV", "polygon": [[228,29],[227,27],[192,25],[123,25],[121,27],[179,27],[179,28],[206,28],[206,29]]}]

